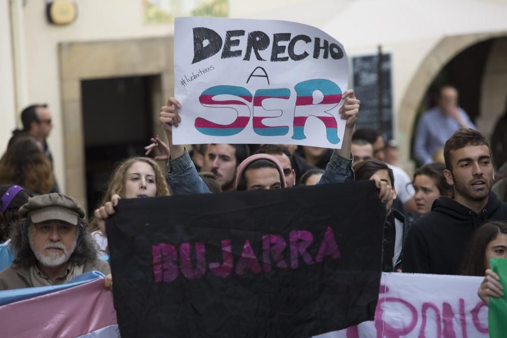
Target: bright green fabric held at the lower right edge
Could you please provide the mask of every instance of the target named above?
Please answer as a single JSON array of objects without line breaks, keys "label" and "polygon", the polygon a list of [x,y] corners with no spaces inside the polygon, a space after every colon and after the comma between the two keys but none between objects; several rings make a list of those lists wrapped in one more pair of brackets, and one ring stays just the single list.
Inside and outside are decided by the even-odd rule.
[{"label": "bright green fabric held at the lower right edge", "polygon": [[490,258],[489,264],[503,286],[503,296],[489,298],[488,327],[489,336],[504,338],[507,332],[507,259]]}]

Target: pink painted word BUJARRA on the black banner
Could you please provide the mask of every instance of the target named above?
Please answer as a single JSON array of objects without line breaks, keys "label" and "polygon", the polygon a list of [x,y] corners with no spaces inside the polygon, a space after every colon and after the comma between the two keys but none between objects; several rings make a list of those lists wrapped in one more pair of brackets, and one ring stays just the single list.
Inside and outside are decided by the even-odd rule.
[{"label": "pink painted word BUJARRA on the black banner", "polygon": [[205,244],[202,242],[195,242],[195,267],[192,264],[191,259],[191,243],[179,244],[179,259],[178,250],[176,250],[174,245],[161,243],[152,247],[155,282],[170,283],[178,277],[179,272],[181,272],[187,279],[200,279],[209,269],[211,274],[214,276],[226,278],[232,273],[241,276],[243,273],[248,271],[251,271],[254,274],[259,274],[263,271],[270,272],[273,263],[278,269],[288,269],[288,266],[292,269],[298,269],[300,258],[302,258],[305,264],[314,265],[315,263],[321,263],[325,256],[331,256],[332,259],[338,259],[341,257],[338,245],[336,244],[335,235],[330,227],[328,227],[325,231],[315,257],[312,257],[310,252],[308,252],[308,247],[312,243],[313,235],[311,232],[292,230],[289,233],[288,249],[290,264],[287,265],[284,257],[287,255],[287,250],[285,250],[287,243],[285,239],[279,235],[264,235],[262,236],[262,245],[260,250],[262,257],[261,266],[259,257],[256,256],[248,239],[245,240],[241,256],[237,259],[237,261],[234,261],[233,259],[231,240],[222,240],[222,263],[207,263]]}]

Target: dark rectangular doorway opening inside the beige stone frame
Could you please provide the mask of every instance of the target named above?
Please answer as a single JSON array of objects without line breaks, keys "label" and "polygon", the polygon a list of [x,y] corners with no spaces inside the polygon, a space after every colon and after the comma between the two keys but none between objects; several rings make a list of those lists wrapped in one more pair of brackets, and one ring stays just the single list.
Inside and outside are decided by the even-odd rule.
[{"label": "dark rectangular doorway opening inside the beige stone frame", "polygon": [[81,82],[89,215],[118,162],[144,155],[154,134],[152,98],[157,84],[159,76]]}]

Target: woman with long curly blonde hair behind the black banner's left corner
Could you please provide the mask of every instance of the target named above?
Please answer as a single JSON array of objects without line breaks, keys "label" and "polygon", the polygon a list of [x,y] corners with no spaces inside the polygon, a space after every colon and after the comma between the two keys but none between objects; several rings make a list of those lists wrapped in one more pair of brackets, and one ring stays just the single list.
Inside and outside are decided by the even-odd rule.
[{"label": "woman with long curly blonde hair behind the black banner's left corner", "polygon": [[[99,206],[110,202],[114,195],[119,198],[168,196],[169,189],[157,162],[148,157],[132,157],[118,164]],[[99,255],[107,255],[107,238],[96,218],[90,221],[90,232],[97,242]]]}]

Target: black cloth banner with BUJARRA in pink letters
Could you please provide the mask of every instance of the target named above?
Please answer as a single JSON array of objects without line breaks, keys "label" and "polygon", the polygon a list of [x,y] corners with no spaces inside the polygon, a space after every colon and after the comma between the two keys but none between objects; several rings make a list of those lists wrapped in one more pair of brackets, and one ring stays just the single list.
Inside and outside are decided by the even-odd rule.
[{"label": "black cloth banner with BUJARRA in pink letters", "polygon": [[308,337],[373,320],[371,181],[121,200],[106,224],[126,337]]}]

